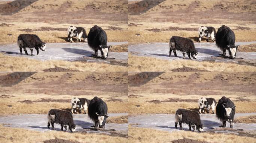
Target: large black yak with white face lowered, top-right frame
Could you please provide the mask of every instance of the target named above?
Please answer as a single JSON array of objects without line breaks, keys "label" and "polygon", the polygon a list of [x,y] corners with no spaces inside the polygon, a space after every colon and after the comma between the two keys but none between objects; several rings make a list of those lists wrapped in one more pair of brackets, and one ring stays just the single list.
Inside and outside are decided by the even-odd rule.
[{"label": "large black yak with white face lowered, top-right frame", "polygon": [[222,25],[216,33],[216,45],[223,51],[223,56],[226,56],[226,50],[228,50],[230,58],[234,59],[237,55],[237,48],[240,45],[235,46],[235,34],[225,25]]}]

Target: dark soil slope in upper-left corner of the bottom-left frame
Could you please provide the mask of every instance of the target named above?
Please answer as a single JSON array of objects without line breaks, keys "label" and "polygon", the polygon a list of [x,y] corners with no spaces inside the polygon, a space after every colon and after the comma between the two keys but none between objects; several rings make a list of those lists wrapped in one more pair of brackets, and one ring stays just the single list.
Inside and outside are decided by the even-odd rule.
[{"label": "dark soil slope in upper-left corner of the bottom-left frame", "polygon": [[30,77],[36,72],[14,72],[4,76],[0,76],[1,86],[13,86],[21,82],[22,80]]}]

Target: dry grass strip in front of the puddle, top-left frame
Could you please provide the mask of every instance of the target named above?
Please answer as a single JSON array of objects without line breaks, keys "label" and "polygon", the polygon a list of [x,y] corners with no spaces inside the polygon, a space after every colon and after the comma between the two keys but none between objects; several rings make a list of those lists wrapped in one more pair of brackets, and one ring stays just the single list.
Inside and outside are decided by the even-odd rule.
[{"label": "dry grass strip in front of the puddle, top-left frame", "polygon": [[23,57],[12,57],[0,53],[0,71],[43,71],[44,69],[62,67],[79,71],[127,71],[125,66],[105,63],[82,63],[64,60],[32,60]]}]

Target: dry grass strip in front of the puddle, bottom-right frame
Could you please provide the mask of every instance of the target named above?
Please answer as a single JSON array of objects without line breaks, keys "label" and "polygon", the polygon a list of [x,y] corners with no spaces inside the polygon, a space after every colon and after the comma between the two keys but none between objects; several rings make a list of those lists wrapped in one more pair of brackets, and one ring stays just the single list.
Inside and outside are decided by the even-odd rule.
[{"label": "dry grass strip in front of the puddle, bottom-right frame", "polygon": [[129,142],[132,143],[166,143],[177,139],[193,139],[210,143],[256,142],[253,137],[241,137],[234,134],[210,134],[191,131],[159,131],[149,128],[128,127]]}]

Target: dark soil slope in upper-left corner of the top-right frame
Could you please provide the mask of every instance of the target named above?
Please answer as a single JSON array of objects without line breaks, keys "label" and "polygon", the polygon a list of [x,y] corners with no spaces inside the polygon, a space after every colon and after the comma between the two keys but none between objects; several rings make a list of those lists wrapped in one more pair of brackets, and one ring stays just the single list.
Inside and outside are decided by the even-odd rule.
[{"label": "dark soil slope in upper-left corner of the top-right frame", "polygon": [[140,15],[165,0],[142,0],[137,3],[128,4],[129,15]]}]

